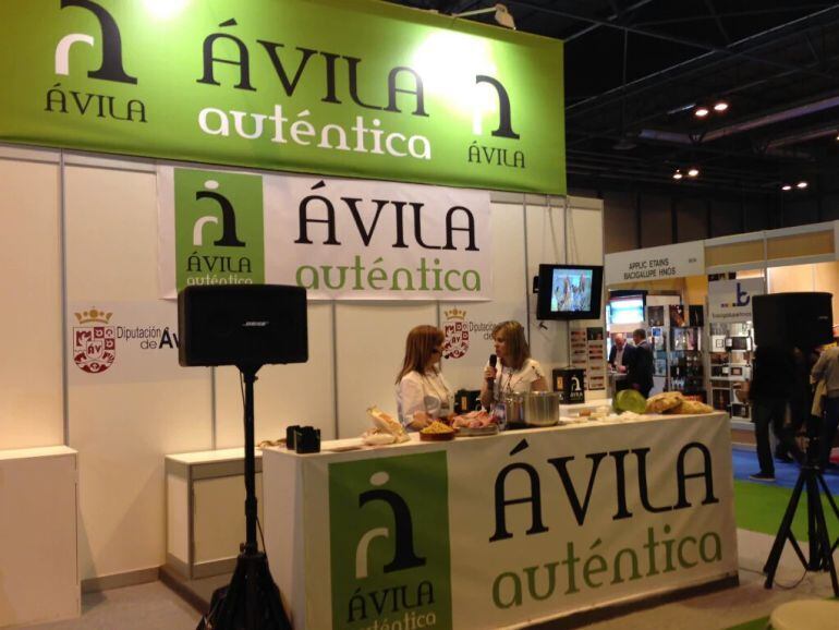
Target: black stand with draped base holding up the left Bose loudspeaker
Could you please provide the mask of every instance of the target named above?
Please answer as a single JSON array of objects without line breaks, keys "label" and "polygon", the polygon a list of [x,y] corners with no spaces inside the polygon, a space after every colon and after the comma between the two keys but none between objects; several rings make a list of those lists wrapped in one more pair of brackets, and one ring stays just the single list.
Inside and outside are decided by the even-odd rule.
[{"label": "black stand with draped base holding up the left Bose loudspeaker", "polygon": [[245,543],[230,584],[212,593],[210,610],[197,630],[291,630],[268,558],[256,544],[254,381],[260,365],[239,365],[245,383]]}]

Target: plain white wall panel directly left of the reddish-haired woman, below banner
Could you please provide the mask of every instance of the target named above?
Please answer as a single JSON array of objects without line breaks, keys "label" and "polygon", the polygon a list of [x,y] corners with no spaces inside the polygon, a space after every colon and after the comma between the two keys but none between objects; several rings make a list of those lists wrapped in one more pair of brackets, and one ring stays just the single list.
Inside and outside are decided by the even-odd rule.
[{"label": "plain white wall panel directly left of the reddish-haired woman, below banner", "polygon": [[420,324],[437,325],[436,303],[337,304],[339,438],[369,428],[366,410],[372,404],[396,415],[393,381],[402,367],[408,332]]}]

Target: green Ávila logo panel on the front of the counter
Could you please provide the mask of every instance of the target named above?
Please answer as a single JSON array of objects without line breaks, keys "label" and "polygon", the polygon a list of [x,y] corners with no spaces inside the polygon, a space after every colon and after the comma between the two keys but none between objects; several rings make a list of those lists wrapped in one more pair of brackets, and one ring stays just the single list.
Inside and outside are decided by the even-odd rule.
[{"label": "green \u00c1vila logo panel on the front of the counter", "polygon": [[332,628],[451,628],[446,451],[329,465]]}]

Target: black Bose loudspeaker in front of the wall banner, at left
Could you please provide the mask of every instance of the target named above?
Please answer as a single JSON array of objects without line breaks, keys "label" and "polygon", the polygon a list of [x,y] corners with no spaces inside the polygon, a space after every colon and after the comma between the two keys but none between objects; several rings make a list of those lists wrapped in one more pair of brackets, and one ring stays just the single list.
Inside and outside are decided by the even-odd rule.
[{"label": "black Bose loudspeaker in front of the wall banner, at left", "polygon": [[302,287],[187,287],[178,295],[178,360],[184,366],[308,361]]}]

